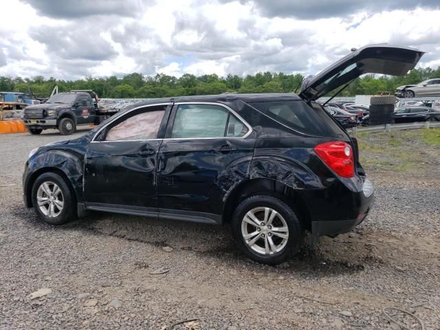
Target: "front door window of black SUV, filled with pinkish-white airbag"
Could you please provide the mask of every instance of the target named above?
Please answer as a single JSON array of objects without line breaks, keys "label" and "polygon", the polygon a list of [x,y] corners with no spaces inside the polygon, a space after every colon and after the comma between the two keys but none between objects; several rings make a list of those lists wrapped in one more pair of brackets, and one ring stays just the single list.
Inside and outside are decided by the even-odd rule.
[{"label": "front door window of black SUV, filled with pinkish-white airbag", "polygon": [[132,115],[113,126],[107,133],[106,141],[150,140],[157,137],[164,110],[146,111]]}]

